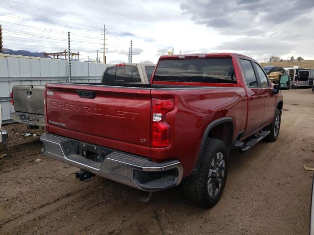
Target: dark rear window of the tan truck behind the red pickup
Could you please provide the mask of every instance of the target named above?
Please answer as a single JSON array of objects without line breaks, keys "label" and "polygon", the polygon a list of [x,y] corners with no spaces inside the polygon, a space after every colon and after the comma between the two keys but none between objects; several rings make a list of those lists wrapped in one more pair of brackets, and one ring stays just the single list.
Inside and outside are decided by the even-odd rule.
[{"label": "dark rear window of the tan truck behind the red pickup", "polygon": [[141,82],[139,71],[136,66],[110,67],[105,71],[104,83],[133,83]]}]

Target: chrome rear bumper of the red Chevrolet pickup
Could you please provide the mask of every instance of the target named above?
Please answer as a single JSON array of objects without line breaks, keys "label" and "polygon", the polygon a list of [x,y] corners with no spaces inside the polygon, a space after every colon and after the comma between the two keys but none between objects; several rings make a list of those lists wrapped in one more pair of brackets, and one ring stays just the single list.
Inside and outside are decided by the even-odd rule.
[{"label": "chrome rear bumper of the red Chevrolet pickup", "polygon": [[[44,155],[96,175],[144,191],[159,191],[180,184],[183,167],[179,161],[155,163],[146,158],[82,141],[45,133],[40,137]],[[82,156],[91,149],[100,161]]]}]

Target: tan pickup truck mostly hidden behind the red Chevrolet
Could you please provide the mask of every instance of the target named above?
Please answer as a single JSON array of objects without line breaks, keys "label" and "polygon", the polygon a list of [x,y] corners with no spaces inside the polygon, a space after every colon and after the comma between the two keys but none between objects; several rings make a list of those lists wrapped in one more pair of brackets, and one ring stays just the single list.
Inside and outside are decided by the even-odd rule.
[{"label": "tan pickup truck mostly hidden behind the red Chevrolet", "polygon": [[[102,83],[149,83],[154,64],[109,65],[102,76]],[[28,126],[45,126],[44,116],[45,86],[13,86],[11,104],[15,112],[11,118]]]}]

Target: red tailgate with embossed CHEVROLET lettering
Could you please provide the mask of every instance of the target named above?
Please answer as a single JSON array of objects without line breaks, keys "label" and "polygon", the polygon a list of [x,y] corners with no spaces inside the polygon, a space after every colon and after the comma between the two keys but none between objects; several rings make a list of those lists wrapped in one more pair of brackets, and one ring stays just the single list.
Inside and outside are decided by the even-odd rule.
[{"label": "red tailgate with embossed CHEVROLET lettering", "polygon": [[[47,130],[54,134],[149,155],[150,89],[46,84]],[[126,147],[127,146],[127,147]]]}]

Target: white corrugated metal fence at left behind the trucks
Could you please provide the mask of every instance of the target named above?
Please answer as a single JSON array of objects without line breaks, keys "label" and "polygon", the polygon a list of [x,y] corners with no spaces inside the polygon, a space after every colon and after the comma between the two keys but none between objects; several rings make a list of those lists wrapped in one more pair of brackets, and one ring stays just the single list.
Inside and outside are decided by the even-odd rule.
[{"label": "white corrugated metal fence at left behind the trucks", "polygon": [[[106,67],[106,64],[72,61],[72,82],[100,82]],[[14,112],[10,103],[13,86],[47,82],[68,82],[66,60],[0,54],[0,104],[4,123],[11,120]]]}]

